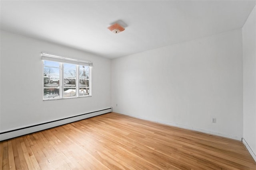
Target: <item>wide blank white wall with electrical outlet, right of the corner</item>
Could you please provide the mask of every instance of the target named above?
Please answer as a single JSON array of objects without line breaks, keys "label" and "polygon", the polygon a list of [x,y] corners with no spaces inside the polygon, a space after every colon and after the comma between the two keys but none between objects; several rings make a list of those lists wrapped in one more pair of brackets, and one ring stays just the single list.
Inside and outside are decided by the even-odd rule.
[{"label": "wide blank white wall with electrical outlet, right of the corner", "polygon": [[121,57],[111,64],[115,112],[241,139],[241,29]]}]

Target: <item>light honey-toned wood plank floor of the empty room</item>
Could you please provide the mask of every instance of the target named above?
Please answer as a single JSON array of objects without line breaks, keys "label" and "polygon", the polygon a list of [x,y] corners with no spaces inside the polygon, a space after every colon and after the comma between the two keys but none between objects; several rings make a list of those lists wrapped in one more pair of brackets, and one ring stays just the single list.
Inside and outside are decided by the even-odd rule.
[{"label": "light honey-toned wood plank floor of the empty room", "polygon": [[3,170],[256,170],[241,141],[118,113],[2,141],[0,156]]}]

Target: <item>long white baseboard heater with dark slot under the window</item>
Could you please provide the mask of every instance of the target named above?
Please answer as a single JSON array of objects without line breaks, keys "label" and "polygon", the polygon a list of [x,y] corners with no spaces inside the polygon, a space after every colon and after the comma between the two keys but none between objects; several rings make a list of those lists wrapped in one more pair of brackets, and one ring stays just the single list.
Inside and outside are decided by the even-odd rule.
[{"label": "long white baseboard heater with dark slot under the window", "polygon": [[7,130],[7,131],[1,131],[0,132],[0,141],[6,140],[6,139],[11,139],[11,138],[22,136],[22,135],[26,135],[26,134],[37,132],[37,131],[42,131],[44,129],[49,129],[49,128],[52,128],[52,127],[64,125],[64,124],[71,123],[71,122],[74,122],[74,121],[79,121],[79,120],[86,119],[86,118],[89,118],[89,117],[94,117],[94,116],[97,116],[97,115],[110,113],[111,111],[112,111],[112,108],[107,108],[107,109],[92,111],[92,112],[89,112],[89,113],[83,113],[83,114],[75,115],[75,116],[71,116],[71,117],[66,117],[66,118],[63,118],[63,119],[58,119],[58,120],[53,120],[53,121],[49,121],[49,122],[45,122],[45,123],[40,123],[40,124],[37,124],[37,125],[31,125],[31,126],[22,127],[22,128],[10,129],[10,130]]}]

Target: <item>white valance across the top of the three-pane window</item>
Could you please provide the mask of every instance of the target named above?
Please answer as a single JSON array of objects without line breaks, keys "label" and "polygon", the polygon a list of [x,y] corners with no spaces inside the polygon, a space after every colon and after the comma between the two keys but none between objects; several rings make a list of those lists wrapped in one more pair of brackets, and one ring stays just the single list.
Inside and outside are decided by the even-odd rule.
[{"label": "white valance across the top of the three-pane window", "polygon": [[57,61],[57,62],[61,62],[61,63],[77,64],[77,65],[84,65],[84,66],[93,66],[92,62],[90,62],[90,61],[70,59],[67,57],[61,57],[58,55],[53,55],[53,54],[44,53],[44,52],[42,52],[42,60]]}]

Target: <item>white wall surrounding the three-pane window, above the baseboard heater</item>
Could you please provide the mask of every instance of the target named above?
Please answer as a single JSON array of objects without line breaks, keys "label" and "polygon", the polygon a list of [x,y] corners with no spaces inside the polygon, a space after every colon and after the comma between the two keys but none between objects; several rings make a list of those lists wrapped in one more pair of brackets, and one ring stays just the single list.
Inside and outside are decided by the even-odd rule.
[{"label": "white wall surrounding the three-pane window, above the baseboard heater", "polygon": [[[6,31],[0,43],[1,132],[110,107],[109,59]],[[92,97],[43,101],[42,51],[92,61]]]}]

